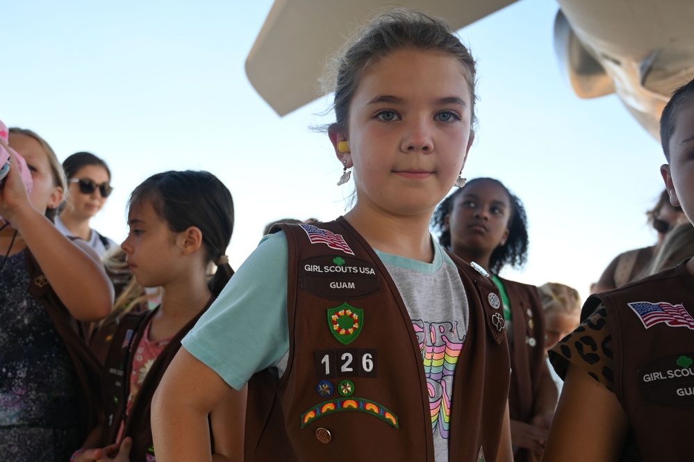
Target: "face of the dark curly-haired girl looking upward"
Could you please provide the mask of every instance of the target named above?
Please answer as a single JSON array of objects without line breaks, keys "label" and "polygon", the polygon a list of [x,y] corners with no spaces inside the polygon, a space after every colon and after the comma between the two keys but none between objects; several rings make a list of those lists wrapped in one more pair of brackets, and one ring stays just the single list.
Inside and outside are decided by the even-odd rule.
[{"label": "face of the dark curly-haired girl looking upward", "polygon": [[447,223],[451,246],[471,249],[471,254],[491,254],[509,237],[511,200],[494,181],[475,181],[458,192]]}]

